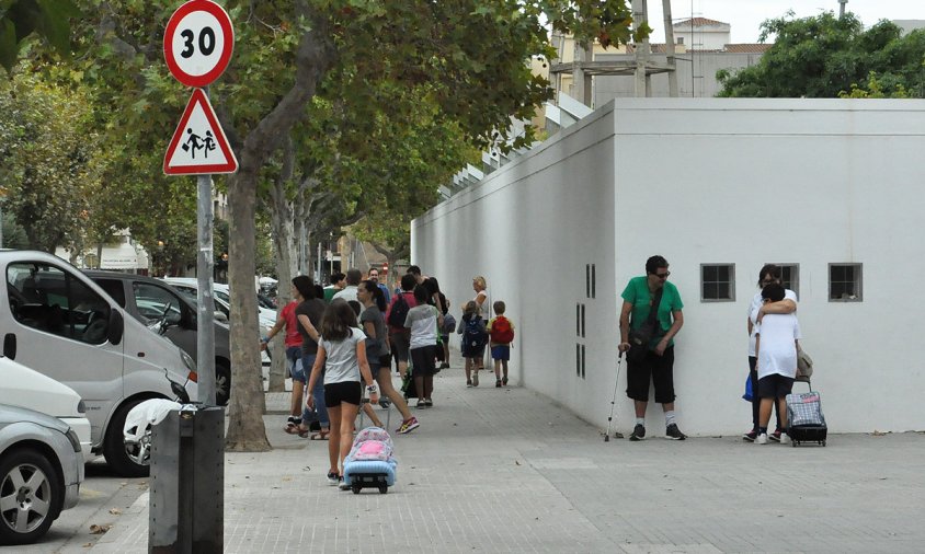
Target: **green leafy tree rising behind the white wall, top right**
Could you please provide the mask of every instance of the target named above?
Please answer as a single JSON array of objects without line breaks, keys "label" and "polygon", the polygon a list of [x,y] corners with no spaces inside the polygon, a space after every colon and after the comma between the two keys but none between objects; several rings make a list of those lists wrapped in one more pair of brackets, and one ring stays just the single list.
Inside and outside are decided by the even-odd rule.
[{"label": "green leafy tree rising behind the white wall, top right", "polygon": [[925,97],[923,31],[902,35],[886,20],[865,30],[852,13],[793,19],[791,12],[762,24],[761,41],[770,36],[775,43],[757,65],[717,72],[719,96],[864,97],[873,90],[880,97]]}]

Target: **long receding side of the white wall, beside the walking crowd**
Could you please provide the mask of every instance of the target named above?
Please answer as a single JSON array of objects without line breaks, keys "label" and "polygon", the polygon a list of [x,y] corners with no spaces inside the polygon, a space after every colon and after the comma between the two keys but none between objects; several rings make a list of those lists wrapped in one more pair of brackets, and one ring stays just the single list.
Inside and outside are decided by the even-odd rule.
[{"label": "long receding side of the white wall, beside the walking crowd", "polygon": [[[412,261],[439,279],[457,319],[464,302],[475,297],[472,277],[483,275],[491,301],[504,300],[516,326],[510,363],[514,382],[569,406],[599,408],[605,396],[599,385],[608,381],[613,390],[613,348],[606,345],[616,325],[608,285],[614,269],[613,112],[594,114],[574,128],[416,219]],[[585,298],[587,264],[596,264],[596,300]],[[594,345],[585,350],[587,379],[575,374],[575,307],[582,301],[587,343]],[[453,371],[461,379],[461,371]],[[587,403],[592,397],[594,403]],[[599,415],[599,409],[584,414]]]}]

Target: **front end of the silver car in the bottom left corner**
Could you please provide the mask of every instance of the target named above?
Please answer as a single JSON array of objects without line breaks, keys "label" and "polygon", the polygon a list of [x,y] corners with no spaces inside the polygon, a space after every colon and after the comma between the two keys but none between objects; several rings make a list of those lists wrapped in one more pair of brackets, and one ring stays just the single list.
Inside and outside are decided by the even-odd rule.
[{"label": "front end of the silver car in the bottom left corner", "polygon": [[66,423],[0,405],[0,543],[41,539],[77,506],[81,482],[80,439]]}]

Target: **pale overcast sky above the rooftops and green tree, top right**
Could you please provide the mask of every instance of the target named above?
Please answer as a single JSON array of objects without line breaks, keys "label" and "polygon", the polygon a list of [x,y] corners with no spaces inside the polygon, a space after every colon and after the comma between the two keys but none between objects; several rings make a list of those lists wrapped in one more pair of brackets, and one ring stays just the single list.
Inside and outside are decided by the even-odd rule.
[{"label": "pale overcast sky above the rooftops and green tree, top right", "polygon": [[[627,4],[630,1],[627,0]],[[672,19],[707,18],[732,25],[733,43],[757,43],[764,20],[779,18],[792,10],[797,18],[823,11],[838,13],[838,0],[671,0]],[[848,0],[845,10],[854,12],[866,27],[881,19],[925,20],[925,0]],[[649,0],[650,41],[665,42],[662,0]]]}]

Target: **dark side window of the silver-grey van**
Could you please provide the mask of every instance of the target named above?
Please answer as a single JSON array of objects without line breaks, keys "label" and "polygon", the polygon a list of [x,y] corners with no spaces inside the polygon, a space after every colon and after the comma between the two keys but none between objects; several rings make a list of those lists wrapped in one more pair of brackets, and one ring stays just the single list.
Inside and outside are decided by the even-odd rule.
[{"label": "dark side window of the silver-grey van", "polygon": [[106,342],[109,302],[59,267],[12,263],[7,293],[13,318],[23,325],[89,344]]}]

